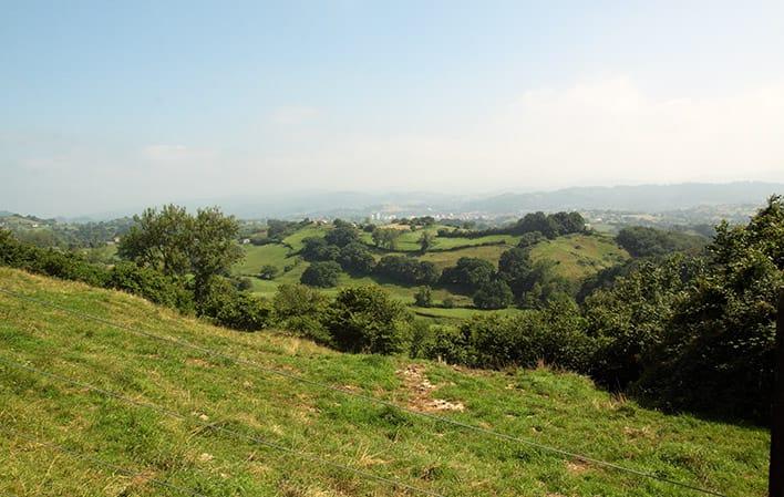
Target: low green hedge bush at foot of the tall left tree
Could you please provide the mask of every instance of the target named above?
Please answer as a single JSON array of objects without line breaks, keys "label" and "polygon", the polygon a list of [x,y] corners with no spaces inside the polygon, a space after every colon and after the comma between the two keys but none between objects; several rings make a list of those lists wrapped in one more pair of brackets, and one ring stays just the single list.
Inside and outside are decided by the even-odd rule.
[{"label": "low green hedge bush at foot of the tall left tree", "polygon": [[140,296],[151,302],[178,309],[180,312],[194,311],[193,294],[177,280],[133,262],[120,262],[114,266],[109,271],[105,287]]}]

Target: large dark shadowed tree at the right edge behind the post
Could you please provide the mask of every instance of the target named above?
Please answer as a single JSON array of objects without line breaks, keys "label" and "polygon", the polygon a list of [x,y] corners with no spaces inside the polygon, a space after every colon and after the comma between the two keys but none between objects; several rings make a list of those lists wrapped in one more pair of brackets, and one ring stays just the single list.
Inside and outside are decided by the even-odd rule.
[{"label": "large dark shadowed tree at the right edge behind the post", "polygon": [[747,226],[720,225],[706,270],[674,301],[637,389],[671,408],[766,421],[783,271],[782,197]]}]

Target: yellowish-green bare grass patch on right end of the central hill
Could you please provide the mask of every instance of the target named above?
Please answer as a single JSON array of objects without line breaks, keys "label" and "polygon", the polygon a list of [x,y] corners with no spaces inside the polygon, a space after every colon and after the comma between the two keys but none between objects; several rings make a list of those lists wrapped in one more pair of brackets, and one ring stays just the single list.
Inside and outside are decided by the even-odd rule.
[{"label": "yellowish-green bare grass patch on right end of the central hill", "polygon": [[561,276],[581,279],[625,261],[629,253],[608,236],[569,235],[537,244],[532,257],[555,261]]}]

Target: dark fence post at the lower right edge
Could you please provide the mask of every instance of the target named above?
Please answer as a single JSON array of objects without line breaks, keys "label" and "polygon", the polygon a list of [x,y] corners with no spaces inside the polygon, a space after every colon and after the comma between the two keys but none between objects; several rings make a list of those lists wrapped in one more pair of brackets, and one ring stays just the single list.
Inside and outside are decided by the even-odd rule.
[{"label": "dark fence post at the lower right edge", "polygon": [[775,361],[767,493],[770,497],[784,497],[784,290],[778,293]]}]

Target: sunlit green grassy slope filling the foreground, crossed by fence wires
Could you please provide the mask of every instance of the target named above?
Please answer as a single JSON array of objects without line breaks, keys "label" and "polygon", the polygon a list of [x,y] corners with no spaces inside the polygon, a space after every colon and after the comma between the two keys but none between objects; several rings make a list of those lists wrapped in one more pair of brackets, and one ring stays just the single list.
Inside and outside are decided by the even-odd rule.
[{"label": "sunlit green grassy slope filling the foreground, crossed by fence wires", "polygon": [[[574,374],[545,369],[475,372],[405,358],[344,355],[271,332],[217,329],[127,294],[4,268],[0,288],[726,495],[765,494],[766,431],[648,411],[597,391]],[[9,361],[89,382],[185,418]],[[205,496],[413,495],[286,456],[227,431],[440,495],[699,495],[423,420],[4,293],[0,293],[0,495],[180,495],[154,482]]]}]

